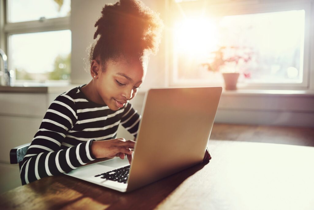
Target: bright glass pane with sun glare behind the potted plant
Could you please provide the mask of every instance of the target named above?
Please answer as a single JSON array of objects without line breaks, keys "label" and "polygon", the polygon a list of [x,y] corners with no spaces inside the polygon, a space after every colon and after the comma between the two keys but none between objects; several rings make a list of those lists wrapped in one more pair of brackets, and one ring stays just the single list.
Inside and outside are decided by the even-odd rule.
[{"label": "bright glass pane with sun glare behind the potted plant", "polygon": [[245,73],[243,82],[300,83],[304,24],[304,10],[177,21],[174,79],[220,79],[208,66],[223,47],[220,71]]}]

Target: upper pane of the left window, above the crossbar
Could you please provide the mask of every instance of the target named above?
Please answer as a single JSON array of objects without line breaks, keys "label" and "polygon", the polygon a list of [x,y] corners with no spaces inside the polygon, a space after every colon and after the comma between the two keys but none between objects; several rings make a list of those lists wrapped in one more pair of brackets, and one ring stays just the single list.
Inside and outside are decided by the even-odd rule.
[{"label": "upper pane of the left window, above the crossbar", "polygon": [[8,22],[24,22],[69,16],[70,0],[9,0]]}]

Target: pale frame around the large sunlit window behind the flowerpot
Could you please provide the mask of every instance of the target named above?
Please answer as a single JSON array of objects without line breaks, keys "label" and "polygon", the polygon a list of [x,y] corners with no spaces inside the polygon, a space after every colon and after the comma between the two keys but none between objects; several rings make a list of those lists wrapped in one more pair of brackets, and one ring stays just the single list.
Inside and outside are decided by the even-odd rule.
[{"label": "pale frame around the large sunlit window behind the flowerpot", "polygon": [[[272,2],[270,0],[266,1],[245,1],[245,0],[235,0],[228,3],[209,3],[209,1],[183,1],[180,3],[175,3],[172,1],[170,3],[169,9],[174,10],[179,7],[190,7],[190,8],[202,8],[204,5],[210,6],[212,11],[217,11],[220,16],[225,15],[241,15],[241,14],[256,14],[256,13],[268,13],[268,12],[280,12],[289,10],[305,10],[305,31],[304,31],[304,46],[303,46],[303,81],[302,83],[238,83],[239,89],[279,89],[279,90],[306,90],[314,88],[314,65],[311,63],[313,60],[313,42],[311,42],[310,37],[314,37],[314,6],[312,0],[303,1],[278,1]],[[208,12],[208,11],[207,11]],[[206,13],[205,13],[206,14]],[[174,15],[169,16],[169,20],[174,20]],[[312,21],[311,21],[312,19]],[[173,25],[173,22],[171,26]],[[168,33],[168,39],[170,43],[174,38],[174,33],[170,31]],[[204,80],[186,80],[178,81],[175,78],[175,55],[173,51],[173,45],[168,47],[170,53],[169,59],[169,86],[224,86],[221,82],[212,82]]]}]

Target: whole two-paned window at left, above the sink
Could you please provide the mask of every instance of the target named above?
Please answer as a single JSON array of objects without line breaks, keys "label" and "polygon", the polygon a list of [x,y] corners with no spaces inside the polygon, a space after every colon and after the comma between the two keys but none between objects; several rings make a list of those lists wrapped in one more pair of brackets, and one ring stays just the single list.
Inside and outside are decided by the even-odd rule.
[{"label": "whole two-paned window at left, above the sink", "polygon": [[[68,83],[70,0],[7,0],[3,35],[15,85]],[[1,38],[2,39],[2,38]]]}]

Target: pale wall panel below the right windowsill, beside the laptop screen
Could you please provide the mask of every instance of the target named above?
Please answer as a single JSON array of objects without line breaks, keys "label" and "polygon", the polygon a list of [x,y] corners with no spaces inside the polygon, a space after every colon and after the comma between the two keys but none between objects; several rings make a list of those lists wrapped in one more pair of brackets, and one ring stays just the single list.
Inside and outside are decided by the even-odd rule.
[{"label": "pale wall panel below the right windowsill, beside the laptop screen", "polygon": [[223,92],[215,122],[314,127],[312,94],[294,94],[294,91],[278,92]]}]

